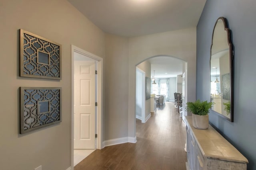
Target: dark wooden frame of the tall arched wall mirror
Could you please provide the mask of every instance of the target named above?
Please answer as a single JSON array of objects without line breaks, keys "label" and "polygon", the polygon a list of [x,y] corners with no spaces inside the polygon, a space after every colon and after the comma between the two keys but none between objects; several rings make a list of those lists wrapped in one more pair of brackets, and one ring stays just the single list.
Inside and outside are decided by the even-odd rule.
[{"label": "dark wooden frame of the tall arched wall mirror", "polygon": [[[229,64],[230,64],[230,118],[222,115],[221,113],[218,113],[216,111],[214,111],[212,109],[212,111],[216,114],[218,114],[219,116],[223,117],[224,119],[227,119],[231,122],[234,121],[234,72],[233,72],[233,64],[234,64],[234,49],[233,49],[233,44],[231,41],[231,33],[230,33],[230,29],[228,28],[228,22],[227,19],[224,17],[220,17],[217,19],[215,25],[214,25],[214,29],[212,31],[212,45],[213,45],[213,36],[214,36],[214,30],[216,28],[216,24],[218,23],[219,20],[222,20],[223,24],[224,24],[224,30],[227,33],[227,40],[228,40],[228,46],[229,46]],[[212,45],[211,45],[211,51],[210,51],[210,80],[211,80],[211,59],[212,59]],[[211,92],[210,92],[211,95]],[[211,97],[212,100],[212,97]]]}]

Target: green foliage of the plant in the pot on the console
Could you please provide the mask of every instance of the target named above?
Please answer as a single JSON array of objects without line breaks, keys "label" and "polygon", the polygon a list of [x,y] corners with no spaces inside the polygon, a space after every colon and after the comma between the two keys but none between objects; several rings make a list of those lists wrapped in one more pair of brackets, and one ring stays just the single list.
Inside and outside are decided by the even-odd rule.
[{"label": "green foliage of the plant in the pot on the console", "polygon": [[210,111],[209,109],[214,104],[214,102],[201,102],[196,100],[196,102],[187,102],[186,110],[192,112],[195,115],[207,115]]}]

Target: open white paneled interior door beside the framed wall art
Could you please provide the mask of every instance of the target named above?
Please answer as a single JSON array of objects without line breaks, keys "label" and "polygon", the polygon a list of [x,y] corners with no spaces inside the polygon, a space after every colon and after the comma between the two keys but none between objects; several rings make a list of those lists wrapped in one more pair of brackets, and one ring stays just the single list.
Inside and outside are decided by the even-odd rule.
[{"label": "open white paneled interior door beside the framed wall art", "polygon": [[95,61],[74,61],[74,149],[95,149]]}]

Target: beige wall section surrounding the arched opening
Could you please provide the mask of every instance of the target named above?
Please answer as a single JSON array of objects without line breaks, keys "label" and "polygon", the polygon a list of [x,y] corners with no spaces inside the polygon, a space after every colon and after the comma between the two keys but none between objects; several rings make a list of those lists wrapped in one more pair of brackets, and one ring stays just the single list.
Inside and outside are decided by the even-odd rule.
[{"label": "beige wall section surrounding the arched opening", "polygon": [[156,33],[129,39],[129,137],[134,137],[135,129],[135,94],[136,65],[159,55],[168,55],[187,62],[187,101],[196,99],[196,27]]}]

